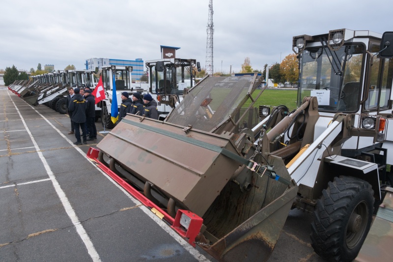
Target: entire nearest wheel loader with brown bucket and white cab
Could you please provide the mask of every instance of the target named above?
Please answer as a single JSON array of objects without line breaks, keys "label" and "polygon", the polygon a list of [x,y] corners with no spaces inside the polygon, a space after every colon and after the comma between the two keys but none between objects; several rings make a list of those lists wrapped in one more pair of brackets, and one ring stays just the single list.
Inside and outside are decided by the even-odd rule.
[{"label": "entire nearest wheel loader with brown bucket and white cab", "polygon": [[313,215],[318,255],[352,261],[391,183],[392,41],[348,29],[295,36],[296,110],[260,106],[244,125],[261,77],[208,76],[164,121],[128,114],[87,156],[219,261],[266,261],[291,208]]}]

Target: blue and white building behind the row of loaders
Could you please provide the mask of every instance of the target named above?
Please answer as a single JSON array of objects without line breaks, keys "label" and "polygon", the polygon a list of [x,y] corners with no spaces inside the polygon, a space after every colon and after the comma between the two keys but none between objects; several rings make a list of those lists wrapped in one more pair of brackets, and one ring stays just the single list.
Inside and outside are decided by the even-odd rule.
[{"label": "blue and white building behind the row of loaders", "polygon": [[122,60],[122,59],[112,59],[112,58],[89,58],[86,59],[86,70],[95,70],[96,67],[101,69],[103,66],[107,65],[123,65],[132,66],[132,78],[133,80],[140,80],[143,75],[144,62],[142,58],[137,58],[135,60]]}]

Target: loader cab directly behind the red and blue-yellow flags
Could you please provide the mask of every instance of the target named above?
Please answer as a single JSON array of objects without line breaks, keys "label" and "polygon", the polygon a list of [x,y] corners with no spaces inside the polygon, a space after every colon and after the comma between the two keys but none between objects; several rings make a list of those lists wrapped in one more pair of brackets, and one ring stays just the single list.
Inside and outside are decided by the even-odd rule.
[{"label": "loader cab directly behind the red and blue-yellow flags", "polygon": [[113,89],[113,76],[114,83],[116,85],[116,91],[132,90],[131,72],[133,70],[132,66],[106,66],[102,68],[102,83],[104,89]]}]

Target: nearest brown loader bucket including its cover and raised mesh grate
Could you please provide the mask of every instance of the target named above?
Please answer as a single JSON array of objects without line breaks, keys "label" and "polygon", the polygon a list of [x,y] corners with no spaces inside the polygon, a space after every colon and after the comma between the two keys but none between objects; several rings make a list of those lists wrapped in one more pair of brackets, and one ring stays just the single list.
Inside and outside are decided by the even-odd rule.
[{"label": "nearest brown loader bucket including its cover and raised mesh grate", "polygon": [[[220,261],[265,261],[297,186],[244,168],[250,144],[239,145],[241,119],[234,119],[260,81],[256,75],[206,78],[167,120],[127,115],[97,145],[100,153],[88,156],[120,185],[127,181],[126,187],[134,188],[127,191],[143,204],[153,209],[149,203],[154,203],[154,210],[172,218],[167,222],[176,216],[171,226],[178,233],[179,212],[202,218],[197,238],[195,232],[179,233],[190,244],[199,244]],[[281,158],[266,158],[277,174],[291,180]],[[252,177],[246,189],[234,182],[239,170]]]}]

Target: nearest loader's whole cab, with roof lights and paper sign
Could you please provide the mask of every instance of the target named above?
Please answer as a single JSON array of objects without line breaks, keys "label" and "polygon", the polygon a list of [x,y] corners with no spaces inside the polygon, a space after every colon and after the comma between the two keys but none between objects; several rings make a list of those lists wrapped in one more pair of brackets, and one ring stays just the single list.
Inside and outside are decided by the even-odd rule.
[{"label": "nearest loader's whole cab, with roof lights and paper sign", "polygon": [[391,109],[393,59],[378,56],[381,38],[348,29],[293,37],[299,60],[298,106],[305,96],[316,96],[319,112]]}]

